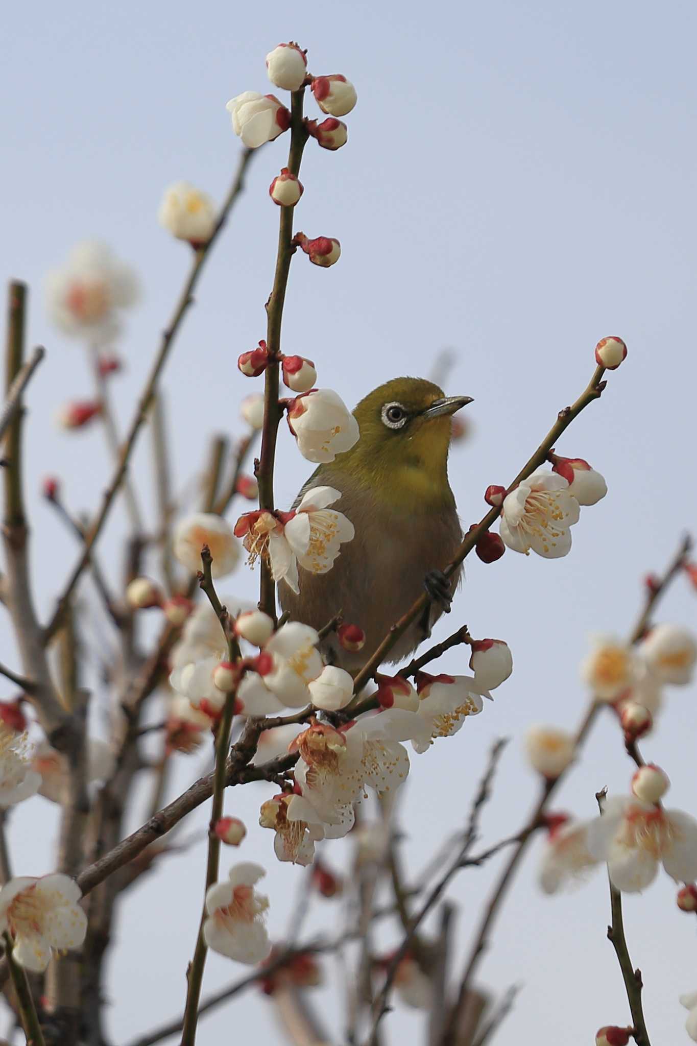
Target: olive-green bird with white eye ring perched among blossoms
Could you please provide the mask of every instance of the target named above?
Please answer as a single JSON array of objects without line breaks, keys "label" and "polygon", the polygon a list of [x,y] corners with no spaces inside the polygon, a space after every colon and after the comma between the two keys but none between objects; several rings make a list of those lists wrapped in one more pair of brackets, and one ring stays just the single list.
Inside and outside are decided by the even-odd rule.
[{"label": "olive-green bird with white eye ring perched among blossoms", "polygon": [[296,499],[313,486],[341,492],[334,507],[355,528],[331,570],[299,569],[300,593],[281,583],[281,607],[295,621],[321,629],[340,611],[359,626],[359,652],[323,643],[325,659],[355,673],[375,652],[390,627],[423,592],[426,614],[412,624],[390,653],[408,657],[449,610],[460,570],[442,573],[462,541],[462,527],[447,478],[450,415],[471,396],[445,396],[423,378],[395,378],[370,392],[353,411],[361,436],[333,461],[321,464]]}]

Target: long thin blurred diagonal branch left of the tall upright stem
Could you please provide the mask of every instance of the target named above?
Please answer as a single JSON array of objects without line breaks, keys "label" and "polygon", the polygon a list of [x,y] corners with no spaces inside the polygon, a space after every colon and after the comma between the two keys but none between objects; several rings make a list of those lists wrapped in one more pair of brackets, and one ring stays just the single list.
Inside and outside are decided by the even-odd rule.
[{"label": "long thin blurred diagonal branch left of the tall upright stem", "polygon": [[55,633],[56,629],[59,628],[67,602],[75,586],[77,585],[77,582],[79,581],[83,571],[85,570],[85,568],[89,563],[92,547],[97,541],[99,535],[101,533],[104,522],[111,509],[112,503],[114,501],[114,498],[116,497],[116,493],[119,490],[123,481],[123,478],[126,474],[129,462],[131,459],[131,454],[138,439],[138,434],[140,433],[140,429],[143,426],[145,418],[148,415],[153,395],[157,391],[160,373],[167,360],[171,346],[175,342],[175,337],[182,324],[182,320],[184,319],[184,316],[186,315],[189,305],[191,305],[193,302],[193,291],[196,287],[196,283],[199,282],[199,278],[203,271],[206,258],[209,256],[211,248],[215,243],[215,241],[217,240],[217,236],[226,223],[226,220],[228,218],[230,209],[232,208],[232,205],[234,204],[235,200],[237,199],[237,197],[239,196],[239,194],[243,188],[245,173],[247,170],[247,166],[250,162],[251,156],[252,156],[251,150],[245,150],[241,153],[239,158],[239,164],[237,167],[237,173],[234,177],[230,191],[228,192],[228,196],[220,209],[220,215],[217,220],[215,229],[213,230],[213,233],[209,242],[205,246],[201,247],[195,253],[189,275],[184,283],[184,289],[175,308],[173,315],[169,321],[168,326],[166,327],[166,329],[162,335],[160,348],[150,368],[147,381],[145,382],[145,388],[138,402],[136,413],[129,428],[127,435],[121,447],[119,461],[116,467],[115,473],[112,477],[112,480],[104,493],[101,508],[97,513],[97,516],[87,533],[85,549],[83,551],[83,554],[79,558],[77,564],[75,565],[68,579],[68,583],[65,587],[63,595],[60,597],[57,601],[57,606],[55,608],[53,616],[46,628],[47,639],[50,639],[51,636],[53,636],[53,634]]}]

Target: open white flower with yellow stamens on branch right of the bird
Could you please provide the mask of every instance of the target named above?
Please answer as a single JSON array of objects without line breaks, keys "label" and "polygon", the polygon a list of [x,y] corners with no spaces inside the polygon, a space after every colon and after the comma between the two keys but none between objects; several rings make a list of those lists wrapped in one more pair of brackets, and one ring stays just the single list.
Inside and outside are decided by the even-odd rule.
[{"label": "open white flower with yellow stamens on branch right of the bird", "polygon": [[499,532],[509,548],[553,560],[570,551],[570,527],[578,523],[580,509],[567,481],[540,469],[507,495],[501,515]]}]

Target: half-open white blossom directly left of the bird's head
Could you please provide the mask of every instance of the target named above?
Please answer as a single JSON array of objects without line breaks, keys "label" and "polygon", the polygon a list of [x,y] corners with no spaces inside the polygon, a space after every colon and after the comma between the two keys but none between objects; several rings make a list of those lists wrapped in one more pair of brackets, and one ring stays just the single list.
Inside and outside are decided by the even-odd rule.
[{"label": "half-open white blossom directly left of the bird's head", "polygon": [[358,423],[332,389],[297,396],[287,418],[298,450],[308,461],[326,464],[358,441]]}]

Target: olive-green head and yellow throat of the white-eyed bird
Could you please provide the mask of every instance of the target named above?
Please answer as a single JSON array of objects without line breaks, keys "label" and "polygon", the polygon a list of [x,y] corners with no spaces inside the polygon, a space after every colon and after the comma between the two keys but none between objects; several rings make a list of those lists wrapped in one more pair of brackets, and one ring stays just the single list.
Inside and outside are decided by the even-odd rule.
[{"label": "olive-green head and yellow throat of the white-eyed bird", "polygon": [[353,411],[361,437],[334,462],[396,506],[432,510],[452,500],[447,482],[450,416],[471,396],[446,396],[423,378],[394,378]]}]

